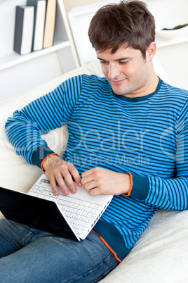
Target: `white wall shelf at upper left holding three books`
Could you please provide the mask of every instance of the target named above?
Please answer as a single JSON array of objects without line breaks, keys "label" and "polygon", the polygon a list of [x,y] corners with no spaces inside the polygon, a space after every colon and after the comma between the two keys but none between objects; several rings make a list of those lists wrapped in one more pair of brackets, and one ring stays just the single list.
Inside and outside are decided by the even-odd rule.
[{"label": "white wall shelf at upper left holding three books", "polygon": [[[25,55],[13,51],[15,6],[26,3],[27,0],[0,1],[0,100],[25,92],[79,66],[62,0],[57,0],[53,46]],[[10,84],[10,80],[18,82],[18,85]]]}]

